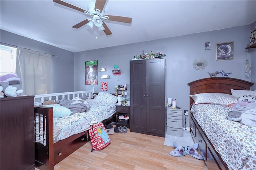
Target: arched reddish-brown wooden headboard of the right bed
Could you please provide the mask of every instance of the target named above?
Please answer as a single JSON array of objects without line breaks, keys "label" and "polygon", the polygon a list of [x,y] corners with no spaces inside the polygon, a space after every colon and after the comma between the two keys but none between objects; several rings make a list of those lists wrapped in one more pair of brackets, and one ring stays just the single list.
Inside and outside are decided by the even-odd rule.
[{"label": "arched reddish-brown wooden headboard of the right bed", "polygon": [[[235,90],[250,90],[254,83],[249,81],[234,79],[230,77],[209,77],[199,79],[188,83],[190,86],[190,95],[198,93],[227,93],[231,94],[230,89]],[[193,99],[190,98],[190,106]]]}]

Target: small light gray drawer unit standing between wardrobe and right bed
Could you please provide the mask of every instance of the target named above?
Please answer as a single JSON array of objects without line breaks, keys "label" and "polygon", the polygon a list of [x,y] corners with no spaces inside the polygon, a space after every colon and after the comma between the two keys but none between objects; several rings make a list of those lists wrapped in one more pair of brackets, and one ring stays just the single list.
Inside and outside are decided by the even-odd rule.
[{"label": "small light gray drawer unit standing between wardrobe and right bed", "polygon": [[166,133],[173,136],[183,136],[182,109],[166,109]]}]

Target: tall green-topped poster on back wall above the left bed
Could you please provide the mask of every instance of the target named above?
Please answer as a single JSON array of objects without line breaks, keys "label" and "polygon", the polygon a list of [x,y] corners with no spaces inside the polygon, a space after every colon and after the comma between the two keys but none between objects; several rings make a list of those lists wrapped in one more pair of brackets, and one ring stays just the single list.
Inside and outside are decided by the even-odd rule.
[{"label": "tall green-topped poster on back wall above the left bed", "polygon": [[85,61],[85,84],[98,85],[98,60]]}]

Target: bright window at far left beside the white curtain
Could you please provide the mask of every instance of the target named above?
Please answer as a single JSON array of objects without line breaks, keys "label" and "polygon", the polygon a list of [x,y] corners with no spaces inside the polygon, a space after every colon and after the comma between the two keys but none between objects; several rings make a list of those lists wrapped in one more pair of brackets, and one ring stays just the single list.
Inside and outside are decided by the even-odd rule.
[{"label": "bright window at far left beside the white curtain", "polygon": [[15,73],[17,48],[0,45],[0,75]]}]

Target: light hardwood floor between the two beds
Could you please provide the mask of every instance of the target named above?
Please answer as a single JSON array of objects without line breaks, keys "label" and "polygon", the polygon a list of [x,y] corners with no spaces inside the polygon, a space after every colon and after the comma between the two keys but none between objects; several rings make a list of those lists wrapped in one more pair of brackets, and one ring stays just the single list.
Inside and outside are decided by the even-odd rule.
[{"label": "light hardwood floor between the two beds", "polygon": [[54,166],[54,170],[128,169],[128,170],[205,170],[204,160],[190,155],[170,156],[174,147],[164,138],[135,132],[109,135],[111,144],[93,151],[91,142]]}]

